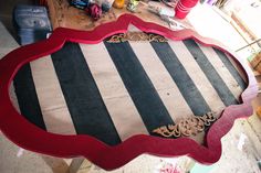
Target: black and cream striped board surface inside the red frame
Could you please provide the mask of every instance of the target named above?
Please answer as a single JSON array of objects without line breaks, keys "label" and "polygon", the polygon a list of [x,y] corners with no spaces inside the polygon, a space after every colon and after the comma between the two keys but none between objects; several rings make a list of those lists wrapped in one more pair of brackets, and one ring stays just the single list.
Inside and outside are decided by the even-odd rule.
[{"label": "black and cream striped board surface inside the red frame", "polygon": [[225,53],[192,40],[65,43],[14,78],[20,110],[30,122],[109,145],[154,134],[181,118],[220,113],[240,102],[246,87]]}]

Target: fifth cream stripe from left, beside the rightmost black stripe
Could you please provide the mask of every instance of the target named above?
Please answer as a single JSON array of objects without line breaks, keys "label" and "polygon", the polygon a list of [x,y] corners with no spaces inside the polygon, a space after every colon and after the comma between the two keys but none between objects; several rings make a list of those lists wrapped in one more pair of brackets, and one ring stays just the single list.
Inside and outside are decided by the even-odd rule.
[{"label": "fifth cream stripe from left, beside the rightmost black stripe", "polygon": [[239,99],[239,96],[242,94],[242,89],[240,88],[233,76],[230,74],[230,72],[226,68],[222,61],[218,57],[217,53],[212,48],[202,46],[200,44],[199,47],[202,50],[203,54],[218,72],[222,80],[227,84],[234,98]]}]

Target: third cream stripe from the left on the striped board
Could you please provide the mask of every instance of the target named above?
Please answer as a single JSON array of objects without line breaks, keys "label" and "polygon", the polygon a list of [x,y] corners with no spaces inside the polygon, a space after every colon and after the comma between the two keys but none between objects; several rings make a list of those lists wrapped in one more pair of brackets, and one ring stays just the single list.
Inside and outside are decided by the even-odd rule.
[{"label": "third cream stripe from the left on the striped board", "polygon": [[153,82],[173,120],[194,115],[152,45],[148,42],[129,42],[129,44]]}]

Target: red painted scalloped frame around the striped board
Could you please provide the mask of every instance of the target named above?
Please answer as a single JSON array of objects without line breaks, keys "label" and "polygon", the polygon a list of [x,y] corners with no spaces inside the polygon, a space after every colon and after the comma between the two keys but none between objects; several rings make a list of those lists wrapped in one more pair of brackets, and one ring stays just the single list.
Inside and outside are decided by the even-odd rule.
[{"label": "red painted scalloped frame around the striped board", "polygon": [[[242,66],[248,77],[249,86],[242,93],[241,105],[227,107],[206,134],[206,144],[200,145],[189,138],[163,139],[152,136],[138,134],[115,147],[90,136],[61,136],[45,132],[25,120],[13,107],[10,96],[10,84],[19,68],[36,58],[59,51],[66,41],[95,44],[109,35],[125,33],[129,24],[144,32],[152,32],[173,40],[194,39],[206,46],[215,46],[231,55]],[[232,128],[237,118],[248,117],[252,113],[251,100],[257,96],[258,87],[250,67],[242,60],[236,58],[225,50],[220,43],[201,37],[191,30],[171,31],[164,26],[144,22],[137,17],[124,14],[116,22],[105,23],[93,31],[75,31],[56,29],[50,39],[22,46],[9,53],[0,61],[0,129],[18,145],[61,158],[83,155],[105,170],[119,167],[142,153],[160,156],[189,155],[198,162],[211,164],[221,155],[221,138]]]}]

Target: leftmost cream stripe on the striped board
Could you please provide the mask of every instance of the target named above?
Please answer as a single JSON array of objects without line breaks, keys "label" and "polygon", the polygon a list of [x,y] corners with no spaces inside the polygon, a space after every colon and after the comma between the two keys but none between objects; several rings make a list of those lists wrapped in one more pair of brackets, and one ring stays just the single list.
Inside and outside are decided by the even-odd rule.
[{"label": "leftmost cream stripe on the striped board", "polygon": [[31,62],[43,120],[49,132],[75,134],[74,125],[50,56]]}]

